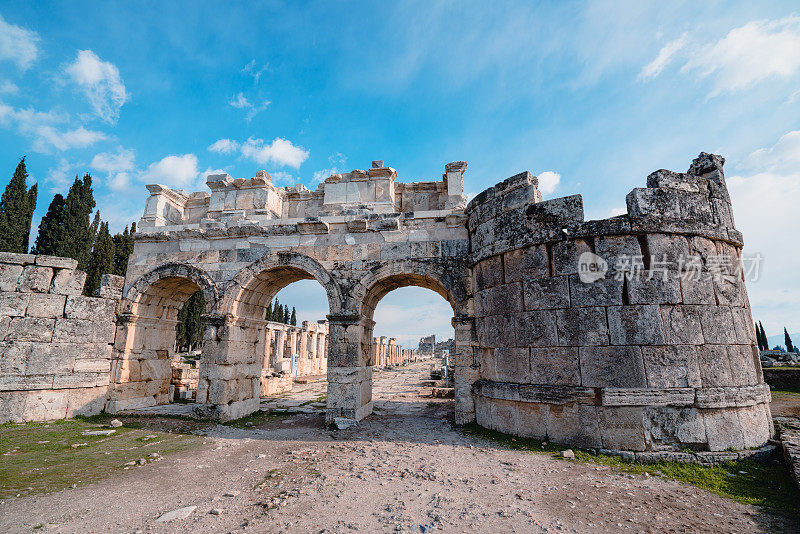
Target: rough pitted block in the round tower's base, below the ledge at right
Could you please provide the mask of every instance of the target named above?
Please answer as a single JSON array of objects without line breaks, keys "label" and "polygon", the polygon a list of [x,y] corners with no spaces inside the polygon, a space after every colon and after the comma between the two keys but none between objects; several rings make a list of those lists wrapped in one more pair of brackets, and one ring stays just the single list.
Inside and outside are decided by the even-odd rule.
[{"label": "rough pitted block in the round tower's base, below the ledge at right", "polygon": [[706,427],[697,408],[646,408],[642,422],[647,450],[701,450],[708,441]]}]

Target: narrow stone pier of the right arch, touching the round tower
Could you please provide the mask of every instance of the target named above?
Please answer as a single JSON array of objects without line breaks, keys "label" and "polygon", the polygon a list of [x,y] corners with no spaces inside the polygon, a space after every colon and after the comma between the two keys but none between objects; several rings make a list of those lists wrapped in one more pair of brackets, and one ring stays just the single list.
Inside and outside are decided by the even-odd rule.
[{"label": "narrow stone pier of the right arch, touching the round tower", "polygon": [[478,364],[473,357],[475,344],[475,319],[472,317],[454,317],[455,329],[454,354],[455,362],[453,386],[455,388],[456,424],[465,425],[475,420],[475,402],[472,398],[472,384],[478,380]]}]

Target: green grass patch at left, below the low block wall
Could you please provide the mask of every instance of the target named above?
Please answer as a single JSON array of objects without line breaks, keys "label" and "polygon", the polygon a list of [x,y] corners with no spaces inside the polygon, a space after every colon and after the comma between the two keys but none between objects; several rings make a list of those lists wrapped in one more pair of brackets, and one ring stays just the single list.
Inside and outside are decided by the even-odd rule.
[{"label": "green grass patch at left, below the low block wall", "polygon": [[86,485],[151,453],[166,456],[203,442],[195,435],[130,426],[117,428],[109,436],[82,434],[102,428],[101,423],[110,419],[0,425],[0,499]]}]

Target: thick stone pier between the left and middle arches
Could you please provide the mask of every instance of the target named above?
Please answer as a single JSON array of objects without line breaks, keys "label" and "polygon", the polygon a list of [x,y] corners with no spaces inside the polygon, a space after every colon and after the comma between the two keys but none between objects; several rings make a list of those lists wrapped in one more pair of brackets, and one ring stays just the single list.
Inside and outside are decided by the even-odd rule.
[{"label": "thick stone pier between the left and middle arches", "polygon": [[203,417],[238,419],[258,410],[266,321],[203,316],[203,365],[196,408]]}]

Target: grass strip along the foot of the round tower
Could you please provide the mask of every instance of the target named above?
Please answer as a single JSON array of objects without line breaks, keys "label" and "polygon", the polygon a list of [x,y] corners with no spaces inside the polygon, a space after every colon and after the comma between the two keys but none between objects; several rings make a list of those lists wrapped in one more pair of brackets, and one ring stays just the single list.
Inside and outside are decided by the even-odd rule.
[{"label": "grass strip along the foot of the round tower", "polygon": [[[463,432],[489,439],[510,449],[549,453],[559,458],[558,453],[567,448],[564,445],[543,444],[534,439],[517,438],[482,428],[475,423],[464,427]],[[605,465],[624,473],[648,473],[679,480],[741,503],[800,517],[800,508],[797,504],[800,502],[800,490],[788,470],[780,464],[751,460],[725,462],[715,466],[681,462],[634,464],[617,456],[593,454],[575,447],[572,447],[572,450],[575,452],[576,460],[579,461]]]}]

